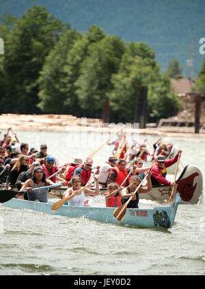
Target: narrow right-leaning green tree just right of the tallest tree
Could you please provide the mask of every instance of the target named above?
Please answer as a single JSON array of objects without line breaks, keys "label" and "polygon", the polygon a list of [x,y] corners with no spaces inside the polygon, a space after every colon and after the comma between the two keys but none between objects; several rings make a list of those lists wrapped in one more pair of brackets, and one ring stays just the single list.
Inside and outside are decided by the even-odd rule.
[{"label": "narrow right-leaning green tree just right of the tallest tree", "polygon": [[81,34],[75,30],[68,30],[46,56],[38,79],[40,88],[38,107],[46,113],[68,113],[68,109],[64,105],[66,100],[64,65],[69,50],[81,37]]}]

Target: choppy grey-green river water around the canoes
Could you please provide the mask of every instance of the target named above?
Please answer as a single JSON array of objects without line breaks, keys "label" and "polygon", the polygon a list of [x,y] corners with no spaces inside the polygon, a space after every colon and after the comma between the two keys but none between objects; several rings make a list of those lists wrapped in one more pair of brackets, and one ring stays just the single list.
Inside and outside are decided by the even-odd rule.
[{"label": "choppy grey-green river water around the canoes", "polygon": [[[85,159],[109,139],[99,132],[19,130],[17,136],[29,148],[39,150],[46,143],[59,165]],[[157,139],[140,135],[139,140],[145,137],[150,143]],[[181,166],[197,165],[204,177],[202,139],[164,137],[163,141],[182,149]],[[111,149],[103,146],[93,157],[94,165],[105,163]],[[104,204],[103,196],[90,197],[90,205]],[[139,207],[154,205],[146,200],[139,203]],[[0,275],[204,275],[204,242],[204,204],[179,205],[169,230],[120,227],[0,206]]]}]

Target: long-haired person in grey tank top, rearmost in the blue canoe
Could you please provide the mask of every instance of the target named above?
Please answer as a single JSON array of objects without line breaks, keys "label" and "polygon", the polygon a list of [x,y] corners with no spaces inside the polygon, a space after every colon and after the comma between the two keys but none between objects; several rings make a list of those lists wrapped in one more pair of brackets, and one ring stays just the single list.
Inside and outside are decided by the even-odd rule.
[{"label": "long-haired person in grey tank top, rearmost in the blue canoe", "polygon": [[[49,185],[56,185],[51,180],[46,180],[46,176],[44,174],[44,171],[42,167],[35,167],[33,170],[33,176],[32,178],[29,178],[23,186],[21,187],[20,191],[23,191],[27,189],[27,196],[28,200],[33,201],[39,201],[42,203],[48,203],[48,188],[41,189],[41,187],[46,187]],[[37,190],[34,190],[34,188],[39,188]],[[61,184],[59,184],[59,187],[61,187]],[[24,199],[25,192],[19,193],[16,195],[16,198]]]}]

